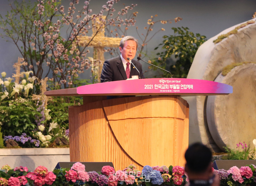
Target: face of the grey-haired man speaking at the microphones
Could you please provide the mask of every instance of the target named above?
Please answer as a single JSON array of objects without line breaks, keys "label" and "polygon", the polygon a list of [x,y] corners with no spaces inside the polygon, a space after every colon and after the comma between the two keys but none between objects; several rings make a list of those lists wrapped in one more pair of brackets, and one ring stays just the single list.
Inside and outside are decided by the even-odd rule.
[{"label": "face of the grey-haired man speaking at the microphones", "polygon": [[136,42],[133,40],[127,40],[125,41],[123,48],[119,47],[119,50],[125,60],[127,60],[127,57],[129,57],[130,60],[132,60],[136,55],[136,50],[137,50]]}]

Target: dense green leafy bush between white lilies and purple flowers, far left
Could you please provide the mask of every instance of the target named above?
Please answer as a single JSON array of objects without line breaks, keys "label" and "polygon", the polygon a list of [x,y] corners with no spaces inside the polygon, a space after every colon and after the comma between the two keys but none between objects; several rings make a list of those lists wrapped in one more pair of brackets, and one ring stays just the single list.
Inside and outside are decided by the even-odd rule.
[{"label": "dense green leafy bush between white lilies and purple flowers, far left", "polygon": [[35,115],[41,115],[35,103],[24,98],[9,100],[0,105],[0,122],[4,136],[33,135],[36,128]]}]

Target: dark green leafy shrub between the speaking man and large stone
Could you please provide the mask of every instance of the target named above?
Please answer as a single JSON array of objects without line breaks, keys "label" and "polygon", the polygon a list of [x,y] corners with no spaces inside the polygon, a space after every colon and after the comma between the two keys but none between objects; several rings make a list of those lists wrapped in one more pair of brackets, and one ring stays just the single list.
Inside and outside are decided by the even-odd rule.
[{"label": "dark green leafy shrub between the speaking man and large stone", "polygon": [[[194,34],[193,32],[189,32],[189,28],[187,27],[173,27],[172,29],[175,35],[163,36],[165,40],[159,46],[162,46],[162,49],[165,51],[157,53],[159,57],[152,60],[152,62],[154,65],[165,69],[166,60],[174,55],[177,58],[175,65],[171,65],[170,69],[166,70],[169,70],[175,78],[186,78],[195,53],[199,46],[206,41],[206,37],[201,36],[199,33]],[[155,70],[156,68],[153,67],[153,69]],[[163,72],[163,77],[171,77],[171,75],[170,73]]]}]

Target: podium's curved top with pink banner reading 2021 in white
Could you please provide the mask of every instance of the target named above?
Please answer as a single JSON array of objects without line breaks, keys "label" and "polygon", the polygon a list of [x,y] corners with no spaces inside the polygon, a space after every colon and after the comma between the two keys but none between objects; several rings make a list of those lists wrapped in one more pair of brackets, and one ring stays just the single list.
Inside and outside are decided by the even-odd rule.
[{"label": "podium's curved top with pink banner reading 2021 in white", "polygon": [[226,95],[233,87],[219,82],[186,78],[149,78],[112,81],[44,92],[46,96],[97,95]]}]

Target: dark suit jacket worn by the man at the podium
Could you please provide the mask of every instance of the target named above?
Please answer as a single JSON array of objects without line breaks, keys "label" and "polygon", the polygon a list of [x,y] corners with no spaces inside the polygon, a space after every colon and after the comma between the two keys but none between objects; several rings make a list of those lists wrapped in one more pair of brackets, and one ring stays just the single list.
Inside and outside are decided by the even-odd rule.
[{"label": "dark suit jacket worn by the man at the podium", "polygon": [[[134,68],[133,64],[131,64],[130,70],[130,78],[132,75],[138,75],[139,77],[145,78],[142,72],[142,65],[140,62],[136,60],[131,60],[131,62],[135,65],[135,67],[139,70],[139,72]],[[123,67],[123,62],[121,56],[111,58],[104,62],[101,71],[101,82],[108,81],[119,81],[126,80],[126,73]]]}]

